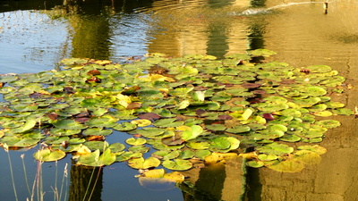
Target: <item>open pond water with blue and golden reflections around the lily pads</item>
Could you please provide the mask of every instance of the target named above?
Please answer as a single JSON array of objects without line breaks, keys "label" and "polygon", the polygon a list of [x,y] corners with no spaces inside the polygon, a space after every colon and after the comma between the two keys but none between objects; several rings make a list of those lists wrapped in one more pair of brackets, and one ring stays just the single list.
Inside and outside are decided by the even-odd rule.
[{"label": "open pond water with blue and golden reflections around the lily pads", "polygon": [[[247,9],[250,12],[244,12]],[[294,67],[329,65],[357,86],[357,12],[356,0],[328,1],[327,11],[323,2],[314,0],[1,1],[0,74],[57,69],[67,57],[114,62],[147,53],[220,58],[267,48],[277,52],[273,60]],[[354,109],[357,89],[333,98]],[[336,119],[342,126],[329,130],[320,143],[328,148],[321,163],[302,172],[243,170],[235,161],[186,172],[192,186],[175,187],[138,180],[134,178],[138,172],[125,163],[97,169],[91,177],[92,169],[71,165],[65,158],[42,164],[44,200],[82,200],[93,180],[97,184],[91,200],[356,200],[357,120]],[[109,140],[124,142],[118,136]],[[19,200],[30,198],[21,155],[31,191],[38,170],[33,153],[10,151],[10,165],[9,155],[0,150],[2,200],[16,200],[11,172]],[[60,191],[61,199],[54,196]]]}]

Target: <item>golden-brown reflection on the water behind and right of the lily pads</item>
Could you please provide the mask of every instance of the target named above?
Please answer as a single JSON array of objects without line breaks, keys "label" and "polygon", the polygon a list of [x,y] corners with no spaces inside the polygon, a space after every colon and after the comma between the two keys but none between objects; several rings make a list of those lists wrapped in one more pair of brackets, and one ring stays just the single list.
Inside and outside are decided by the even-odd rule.
[{"label": "golden-brown reflection on the water behind and right of the lily pads", "polygon": [[[317,3],[283,6],[273,13],[254,16],[228,14],[234,9],[243,11],[248,6],[243,2],[248,3],[234,1],[210,9],[205,4],[181,6],[180,9],[154,9],[156,11],[153,17],[158,20],[162,30],[153,35],[149,52],[179,56],[221,56],[243,53],[252,46],[264,47],[278,53],[273,57],[274,60],[290,63],[295,67],[329,65],[347,77],[348,83],[358,87],[355,80],[358,76],[357,1],[329,1],[328,13],[324,13],[323,4]],[[269,8],[287,2],[308,1],[268,0],[264,6]],[[332,99],[354,109],[358,105],[357,87],[346,90],[340,96],[332,96]],[[355,131],[357,120],[352,116],[337,119],[343,125],[330,130],[327,138],[320,143],[322,147],[328,148],[328,153],[322,155],[320,164],[307,166],[303,172],[297,173],[273,172],[262,168],[246,174],[240,173],[238,178],[233,178],[230,175],[241,170],[240,165],[237,165],[233,172],[222,170],[226,172],[225,180],[218,181],[217,177],[211,177],[211,182],[221,182],[219,196],[224,198],[231,191],[235,197],[226,197],[224,200],[237,200],[244,193],[235,192],[224,183],[246,178],[246,183],[236,184],[235,188],[241,189],[246,185],[246,190],[251,192],[246,192],[245,197],[256,197],[254,200],[356,200],[358,177],[355,175],[358,160],[354,153],[358,149]],[[193,180],[192,183],[200,188],[198,180]]]}]

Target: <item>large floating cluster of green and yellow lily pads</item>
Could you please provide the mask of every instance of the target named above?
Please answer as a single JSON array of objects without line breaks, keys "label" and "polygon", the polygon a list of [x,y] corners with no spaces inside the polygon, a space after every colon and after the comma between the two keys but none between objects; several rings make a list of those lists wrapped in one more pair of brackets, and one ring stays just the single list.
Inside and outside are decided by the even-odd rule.
[{"label": "large floating cluster of green and yellow lily pads", "polygon": [[[40,161],[72,154],[88,166],[127,162],[134,169],[184,171],[213,153],[238,154],[241,145],[253,147],[241,154],[252,167],[283,171],[293,158],[307,164],[324,148],[290,143],[320,142],[340,125],[327,117],[353,114],[328,96],[345,78],[326,65],[249,62],[271,54],[256,50],[222,60],[150,54],[122,64],[71,58],[62,61],[63,71],[2,75],[0,143],[40,144],[34,155]],[[110,144],[109,135],[128,138]]]}]

